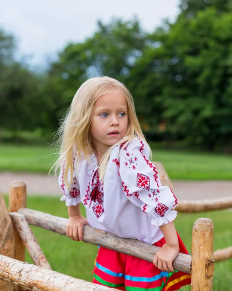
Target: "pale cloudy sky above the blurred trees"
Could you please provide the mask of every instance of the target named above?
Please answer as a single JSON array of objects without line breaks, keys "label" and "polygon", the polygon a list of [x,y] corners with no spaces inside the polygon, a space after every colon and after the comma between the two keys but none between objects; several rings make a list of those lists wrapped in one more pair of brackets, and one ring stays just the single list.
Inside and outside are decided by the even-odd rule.
[{"label": "pale cloudy sky above the blurred trees", "polygon": [[45,66],[68,42],[92,36],[100,19],[130,20],[152,32],[168,18],[174,21],[179,0],[0,0],[0,27],[17,37],[17,57]]}]

